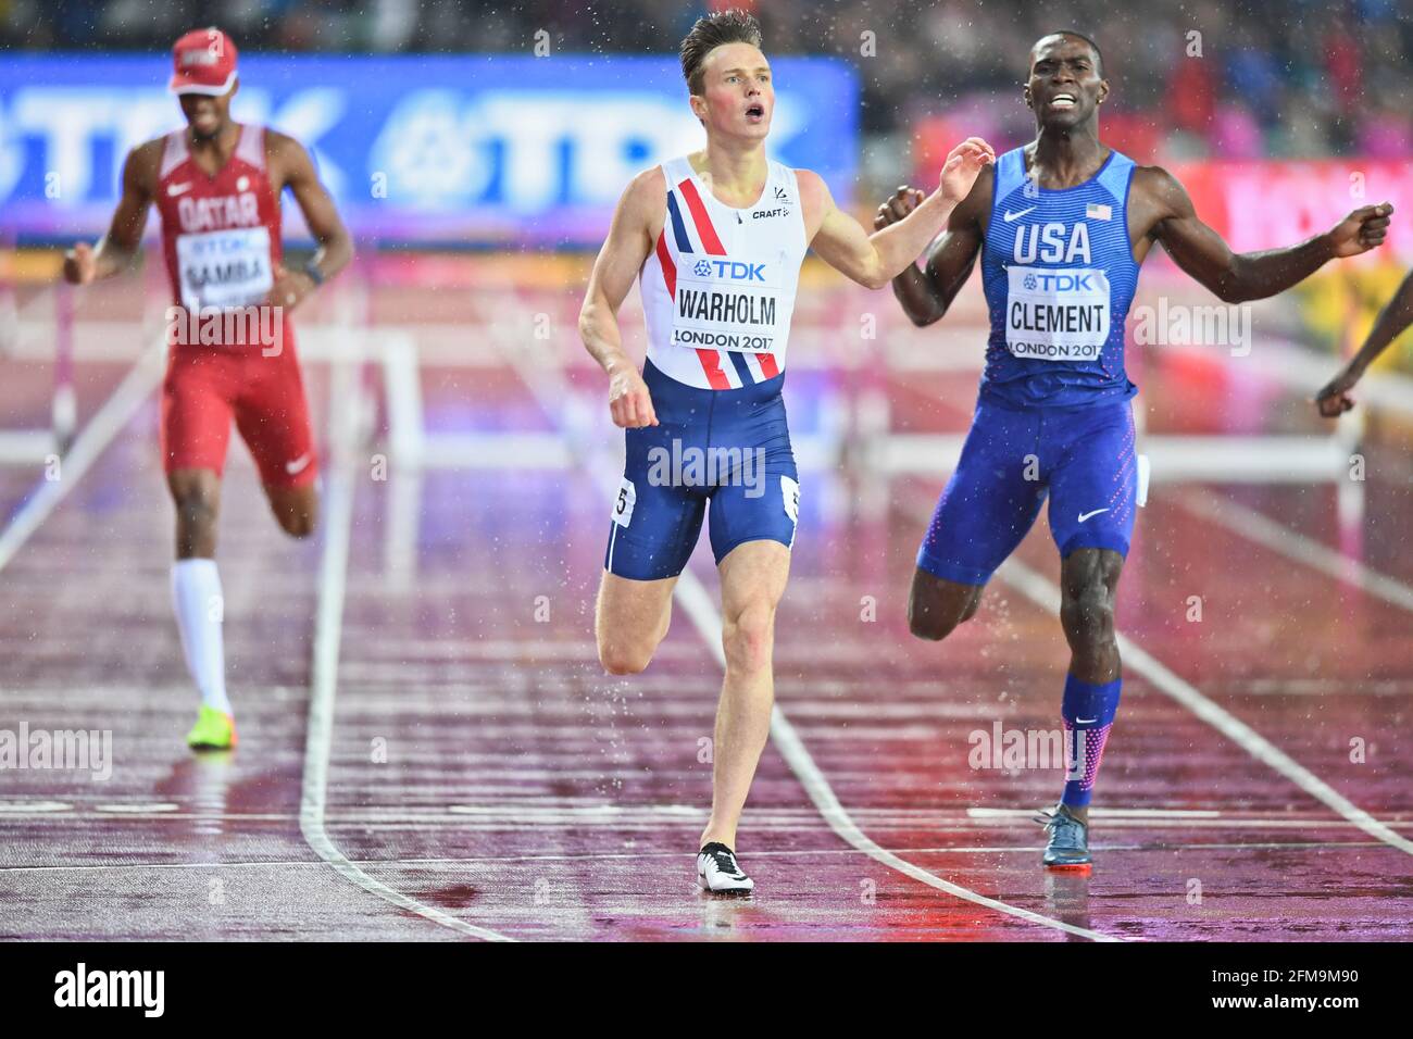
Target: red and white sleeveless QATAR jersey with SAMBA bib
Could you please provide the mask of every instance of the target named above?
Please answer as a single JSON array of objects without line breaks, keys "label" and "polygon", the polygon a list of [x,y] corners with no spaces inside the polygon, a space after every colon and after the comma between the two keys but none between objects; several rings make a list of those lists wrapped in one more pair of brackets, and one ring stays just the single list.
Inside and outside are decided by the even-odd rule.
[{"label": "red and white sleeveless QATAR jersey with SAMBA bib", "polygon": [[185,130],[165,140],[157,211],[172,297],[191,311],[259,305],[281,256],[264,127],[242,126],[236,150],[215,177],[192,160]]}]

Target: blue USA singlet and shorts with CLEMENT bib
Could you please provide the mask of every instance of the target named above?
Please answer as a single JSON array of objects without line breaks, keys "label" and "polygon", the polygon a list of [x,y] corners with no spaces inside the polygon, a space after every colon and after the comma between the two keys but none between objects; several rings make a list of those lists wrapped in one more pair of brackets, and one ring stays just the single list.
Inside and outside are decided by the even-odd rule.
[{"label": "blue USA singlet and shorts with CLEMENT bib", "polygon": [[996,163],[982,284],[986,369],[962,455],[917,565],[983,585],[1050,502],[1061,557],[1128,554],[1139,500],[1123,322],[1137,287],[1129,245],[1133,161],[1084,184],[1039,187],[1022,148]]}]

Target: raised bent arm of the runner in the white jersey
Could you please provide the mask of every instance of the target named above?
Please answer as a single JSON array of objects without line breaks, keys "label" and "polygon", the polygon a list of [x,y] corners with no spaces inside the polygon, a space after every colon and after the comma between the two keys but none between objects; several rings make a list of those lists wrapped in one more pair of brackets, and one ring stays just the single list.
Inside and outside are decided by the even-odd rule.
[{"label": "raised bent arm of the runner in the white jersey", "polygon": [[842,212],[818,174],[801,170],[800,192],[818,218],[810,245],[820,259],[868,288],[882,288],[921,256],[947,223],[952,209],[971,192],[982,167],[996,154],[979,137],[968,137],[947,155],[937,191],[907,213],[872,235]]}]

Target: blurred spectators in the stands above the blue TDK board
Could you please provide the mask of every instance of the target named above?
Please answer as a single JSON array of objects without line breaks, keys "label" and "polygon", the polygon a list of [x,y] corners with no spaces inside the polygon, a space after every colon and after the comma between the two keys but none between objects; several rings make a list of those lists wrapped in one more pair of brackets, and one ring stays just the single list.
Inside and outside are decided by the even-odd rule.
[{"label": "blurred spectators in the stands above the blue TDK board", "polygon": [[[1409,0],[0,0],[6,49],[164,49],[206,23],[242,49],[670,52],[714,7],[753,8],[767,54],[832,54],[889,144],[961,127],[1029,137],[1030,44],[1092,35],[1105,134],[1145,161],[1413,154]],[[964,134],[965,136],[965,134]],[[894,141],[893,139],[904,139]],[[868,161],[865,161],[865,167]]]}]

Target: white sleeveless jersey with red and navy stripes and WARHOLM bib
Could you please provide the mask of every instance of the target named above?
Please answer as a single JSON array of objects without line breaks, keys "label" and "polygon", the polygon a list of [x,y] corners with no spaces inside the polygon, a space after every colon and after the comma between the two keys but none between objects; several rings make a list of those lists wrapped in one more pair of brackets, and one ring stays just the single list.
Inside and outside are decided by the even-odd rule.
[{"label": "white sleeveless jersey with red and navy stripes and WARHOLM bib", "polygon": [[755,205],[733,209],[691,163],[663,163],[667,218],[639,273],[647,358],[667,376],[731,390],[786,369],[800,264],[808,247],[794,170],[769,163]]}]

